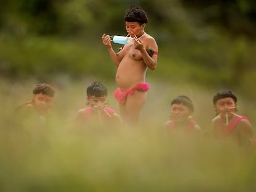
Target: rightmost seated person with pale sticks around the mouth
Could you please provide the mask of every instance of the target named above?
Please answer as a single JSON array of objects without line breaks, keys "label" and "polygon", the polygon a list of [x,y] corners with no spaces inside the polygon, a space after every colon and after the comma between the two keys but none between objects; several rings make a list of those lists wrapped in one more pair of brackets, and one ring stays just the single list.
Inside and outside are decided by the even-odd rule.
[{"label": "rightmost seated person with pale sticks around the mouth", "polygon": [[213,96],[216,117],[212,120],[211,136],[216,140],[232,140],[239,146],[255,144],[252,125],[247,117],[238,115],[237,97],[229,90]]}]

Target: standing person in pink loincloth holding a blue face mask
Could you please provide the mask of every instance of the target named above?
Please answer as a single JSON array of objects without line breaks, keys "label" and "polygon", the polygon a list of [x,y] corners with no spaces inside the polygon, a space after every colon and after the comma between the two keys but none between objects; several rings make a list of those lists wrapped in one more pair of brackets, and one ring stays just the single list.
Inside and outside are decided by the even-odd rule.
[{"label": "standing person in pink loincloth holding a blue face mask", "polygon": [[103,44],[117,67],[114,98],[119,102],[120,114],[128,125],[139,122],[142,107],[147,99],[149,85],[146,83],[147,69],[155,70],[158,59],[158,45],[144,29],[147,14],[139,6],[130,6],[124,16],[126,32],[134,39],[125,44],[119,52],[114,52],[109,35],[102,36]]}]

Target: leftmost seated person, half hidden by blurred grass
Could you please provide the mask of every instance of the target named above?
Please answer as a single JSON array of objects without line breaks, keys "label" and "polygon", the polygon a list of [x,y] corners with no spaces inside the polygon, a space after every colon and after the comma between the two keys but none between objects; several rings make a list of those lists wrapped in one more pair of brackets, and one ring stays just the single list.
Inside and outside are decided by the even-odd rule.
[{"label": "leftmost seated person, half hidden by blurred grass", "polygon": [[19,114],[20,120],[35,120],[45,123],[49,109],[53,106],[55,90],[47,83],[40,83],[33,89],[33,99],[23,102],[16,107],[15,111]]}]

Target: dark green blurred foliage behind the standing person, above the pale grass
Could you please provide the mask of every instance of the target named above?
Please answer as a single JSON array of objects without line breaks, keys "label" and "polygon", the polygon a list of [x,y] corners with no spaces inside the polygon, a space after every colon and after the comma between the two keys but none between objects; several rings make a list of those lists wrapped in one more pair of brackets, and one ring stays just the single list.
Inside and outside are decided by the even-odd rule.
[{"label": "dark green blurred foliage behind the standing person, above the pale grass", "polygon": [[160,48],[153,78],[235,88],[250,98],[256,94],[254,1],[6,0],[2,4],[4,77],[47,80],[66,74],[110,79],[115,69],[101,35],[126,35],[124,10],[138,4],[148,13],[146,31]]}]

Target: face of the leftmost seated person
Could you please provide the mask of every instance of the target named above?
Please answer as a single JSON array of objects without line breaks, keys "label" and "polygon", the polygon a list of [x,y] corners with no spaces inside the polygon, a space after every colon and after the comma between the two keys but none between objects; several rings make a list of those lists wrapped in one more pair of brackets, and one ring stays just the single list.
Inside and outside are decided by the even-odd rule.
[{"label": "face of the leftmost seated person", "polygon": [[34,96],[33,104],[41,114],[45,114],[53,106],[53,98],[43,93],[38,93]]}]

